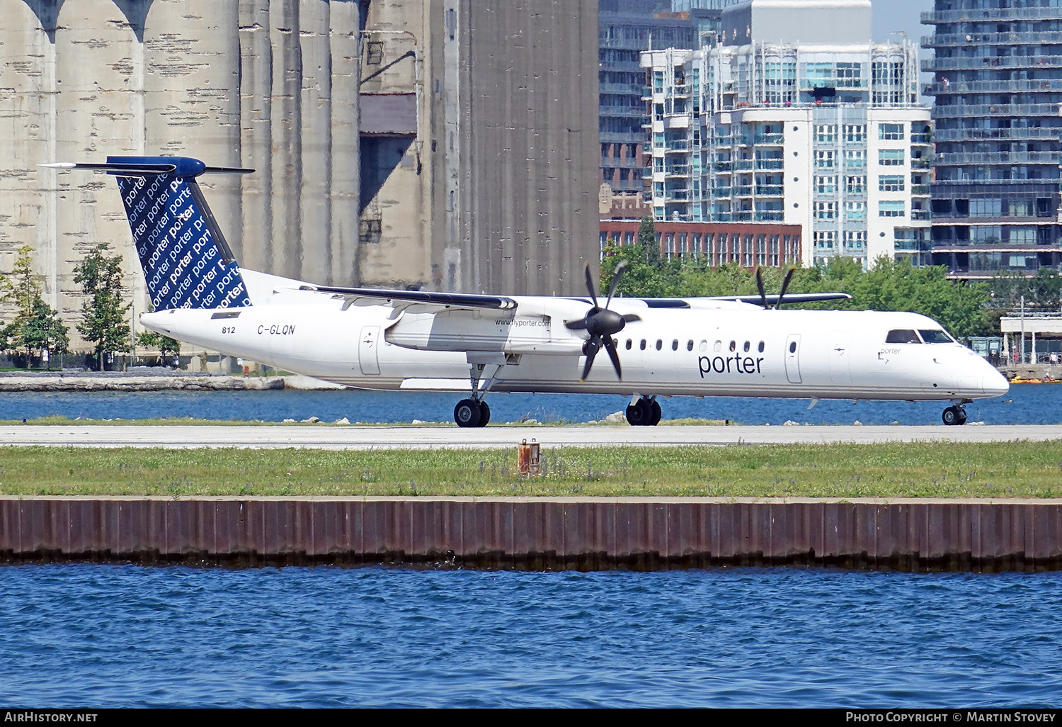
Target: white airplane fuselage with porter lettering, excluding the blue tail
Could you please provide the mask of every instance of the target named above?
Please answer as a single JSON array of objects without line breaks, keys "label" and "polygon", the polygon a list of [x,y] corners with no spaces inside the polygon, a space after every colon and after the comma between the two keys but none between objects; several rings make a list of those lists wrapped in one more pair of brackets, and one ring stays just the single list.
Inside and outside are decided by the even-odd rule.
[{"label": "white airplane fuselage with porter lettering, excluding the blue tail", "polygon": [[506,364],[493,391],[967,401],[1007,390],[994,368],[954,341],[887,342],[891,331],[940,329],[909,312],[653,308],[619,299],[613,308],[641,319],[614,336],[622,381],[601,366],[580,382],[585,336],[551,315],[559,299],[518,298],[515,314],[446,317],[314,295],[141,320],[211,351],[359,389],[468,390],[470,362],[482,360]]}]

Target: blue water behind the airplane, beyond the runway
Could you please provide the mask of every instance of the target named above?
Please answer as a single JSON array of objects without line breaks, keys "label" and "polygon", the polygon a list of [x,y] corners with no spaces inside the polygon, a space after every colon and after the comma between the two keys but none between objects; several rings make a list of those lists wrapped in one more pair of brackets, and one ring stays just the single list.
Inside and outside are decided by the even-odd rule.
[{"label": "blue water behind the airplane, beyond the runway", "polygon": [[[401,391],[149,391],[92,393],[0,392],[0,419],[62,415],[71,419],[195,417],[218,420],[308,419],[331,422],[409,423],[414,419],[452,422],[459,393]],[[524,418],[541,422],[586,422],[621,411],[624,396],[605,394],[489,394],[492,422]],[[823,400],[808,409],[806,399],[661,400],[665,419],[729,419],[744,424],[940,424],[946,402],[858,402]],[[970,422],[1058,424],[1062,384],[1021,384],[1006,396],[966,405]]]}]

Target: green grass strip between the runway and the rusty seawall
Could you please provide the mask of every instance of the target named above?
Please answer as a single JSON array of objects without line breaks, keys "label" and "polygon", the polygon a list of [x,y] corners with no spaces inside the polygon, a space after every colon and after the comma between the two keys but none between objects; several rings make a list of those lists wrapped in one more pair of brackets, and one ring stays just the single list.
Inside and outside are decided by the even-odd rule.
[{"label": "green grass strip between the runway and the rusty seawall", "polygon": [[516,451],[0,450],[2,494],[1058,497],[1062,442]]}]

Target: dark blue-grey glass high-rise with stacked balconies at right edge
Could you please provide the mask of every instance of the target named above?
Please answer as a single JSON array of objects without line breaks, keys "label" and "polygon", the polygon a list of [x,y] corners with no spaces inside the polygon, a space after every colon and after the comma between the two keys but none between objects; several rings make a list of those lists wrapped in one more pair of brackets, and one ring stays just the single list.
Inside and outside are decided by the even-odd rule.
[{"label": "dark blue-grey glass high-rise with stacked balconies at right edge", "polygon": [[932,261],[956,277],[1062,264],[1062,2],[936,0]]}]

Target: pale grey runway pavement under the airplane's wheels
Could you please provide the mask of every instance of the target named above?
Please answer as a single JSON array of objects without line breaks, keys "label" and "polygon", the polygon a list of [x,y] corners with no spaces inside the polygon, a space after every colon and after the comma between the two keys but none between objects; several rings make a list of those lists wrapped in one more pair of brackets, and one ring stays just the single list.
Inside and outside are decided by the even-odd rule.
[{"label": "pale grey runway pavement under the airplane's wheels", "polygon": [[372,449],[998,442],[1062,439],[1062,425],[965,426],[3,426],[0,445]]}]

